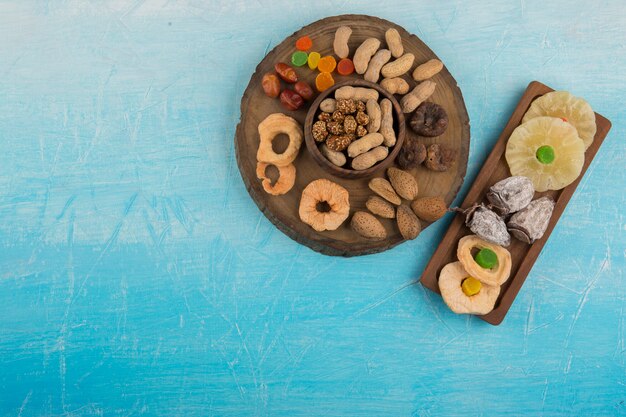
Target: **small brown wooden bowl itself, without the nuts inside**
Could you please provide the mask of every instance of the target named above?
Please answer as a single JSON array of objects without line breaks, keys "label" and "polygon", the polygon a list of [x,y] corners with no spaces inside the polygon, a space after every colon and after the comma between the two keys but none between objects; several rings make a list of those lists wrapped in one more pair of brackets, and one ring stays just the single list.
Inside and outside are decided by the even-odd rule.
[{"label": "small brown wooden bowl itself, without the nuts inside", "polygon": [[[346,85],[352,87],[373,88],[380,94],[379,101],[383,98],[388,98],[393,105],[393,128],[396,132],[396,144],[389,150],[389,155],[387,155],[387,158],[378,162],[376,165],[364,170],[343,168],[333,164],[328,159],[326,159],[324,155],[322,155],[317,147],[317,142],[315,142],[315,139],[313,139],[313,123],[316,121],[316,116],[319,112],[320,103],[325,98],[332,97],[335,94],[335,90]],[[315,162],[317,162],[326,172],[342,178],[367,178],[373,176],[376,172],[387,168],[393,163],[393,161],[396,159],[396,156],[398,156],[398,152],[400,152],[402,143],[404,143],[404,135],[404,114],[402,113],[402,109],[400,108],[400,104],[398,103],[398,101],[395,99],[393,94],[389,94],[389,92],[387,92],[387,90],[382,88],[380,85],[365,80],[345,81],[343,83],[336,84],[322,92],[317,97],[317,99],[315,99],[313,104],[311,104],[311,107],[309,108],[306,119],[304,121],[304,141],[306,143],[308,151],[311,153],[311,156],[313,157]],[[345,166],[348,166],[349,164],[350,160],[346,163]]]}]

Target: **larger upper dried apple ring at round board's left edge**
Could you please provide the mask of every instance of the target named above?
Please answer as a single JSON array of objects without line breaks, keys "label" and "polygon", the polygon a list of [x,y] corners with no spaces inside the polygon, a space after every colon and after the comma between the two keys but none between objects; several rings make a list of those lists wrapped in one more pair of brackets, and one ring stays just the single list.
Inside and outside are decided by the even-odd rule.
[{"label": "larger upper dried apple ring at round board's left edge", "polygon": [[[296,119],[282,113],[273,113],[259,123],[259,150],[256,159],[277,167],[291,164],[300,151],[302,145],[302,127]],[[276,153],[272,149],[272,141],[279,134],[289,136],[289,145],[283,153]]]}]

